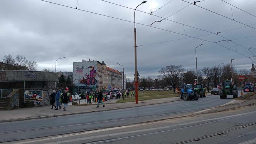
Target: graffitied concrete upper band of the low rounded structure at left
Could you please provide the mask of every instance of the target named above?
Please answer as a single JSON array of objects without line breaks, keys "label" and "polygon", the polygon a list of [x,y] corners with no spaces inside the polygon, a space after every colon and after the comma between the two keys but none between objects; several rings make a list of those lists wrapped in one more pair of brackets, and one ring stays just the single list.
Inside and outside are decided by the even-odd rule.
[{"label": "graffitied concrete upper band of the low rounded structure at left", "polygon": [[57,82],[58,76],[55,72],[2,70],[0,71],[0,82],[30,81],[30,82]]}]

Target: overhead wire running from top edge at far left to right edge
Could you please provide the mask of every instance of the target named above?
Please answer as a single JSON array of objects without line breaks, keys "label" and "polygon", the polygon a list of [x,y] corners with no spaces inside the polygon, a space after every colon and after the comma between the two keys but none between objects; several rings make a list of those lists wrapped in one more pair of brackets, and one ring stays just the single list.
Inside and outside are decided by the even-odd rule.
[{"label": "overhead wire running from top edge at far left to right edge", "polygon": [[[88,10],[82,10],[82,9],[79,9],[79,8],[74,8],[74,7],[70,7],[70,6],[67,6],[67,5],[62,5],[62,4],[59,4],[59,3],[49,2],[49,1],[46,1],[46,0],[40,0],[40,1],[42,1],[42,2],[47,2],[47,3],[52,3],[52,4],[55,4],[55,5],[59,5],[59,6],[67,7],[67,8],[72,8],[72,9],[75,9],[75,10],[81,10],[81,11],[84,11],[84,12],[93,13],[93,14],[96,14],[96,15],[104,16],[104,17],[109,17],[109,18],[114,18],[114,19],[118,19],[118,20],[123,20],[123,21],[126,21],[126,22],[134,23],[134,22],[132,22],[132,21],[125,20],[125,19],[122,19],[122,18],[116,18],[116,17],[111,17],[111,16],[108,16],[108,15],[103,15],[103,14],[100,14],[100,13],[90,12],[90,11],[88,11]],[[137,22],[136,22],[136,23],[137,23]],[[144,26],[148,26],[148,25],[143,24],[143,23],[137,23],[137,24],[139,24],[139,25],[144,25]],[[148,26],[148,27],[149,27],[149,26]],[[151,27],[152,27],[152,26],[151,26]],[[157,28],[157,29],[159,29],[159,30],[164,30],[164,31],[171,32],[171,33],[176,33],[176,34],[179,34],[179,35],[184,35],[184,34],[182,34],[182,33],[173,32],[173,31],[170,31],[170,30],[165,30],[165,29],[163,29],[163,28],[158,28],[158,27],[153,27],[153,28]],[[197,38],[197,37],[192,37],[192,36],[189,36],[189,35],[185,35],[185,36],[191,37],[191,38],[194,38],[194,39],[198,39],[198,40],[203,40],[203,41],[210,42],[210,43],[213,43],[213,44],[216,44],[215,42],[212,42],[212,41],[209,41],[209,40],[199,39],[199,38]],[[217,45],[220,45],[220,44],[217,44]],[[234,50],[232,50],[232,49],[230,49],[230,48],[228,48],[228,47],[225,47],[225,46],[223,46],[223,45],[220,45],[220,46],[222,46],[222,47],[224,47],[224,48],[226,48],[226,49],[229,49],[229,50],[231,50],[231,51],[233,51],[233,52],[236,52],[236,51],[234,51]],[[237,53],[237,54],[240,54],[240,55],[243,55],[244,57],[248,57],[248,56],[246,56],[246,55],[244,55],[244,54],[241,54],[241,53],[239,53],[239,52],[236,52],[236,53]],[[250,58],[250,57],[248,57],[248,58]],[[253,60],[252,60],[252,61],[253,61]],[[254,62],[254,63],[255,63],[255,62]]]}]

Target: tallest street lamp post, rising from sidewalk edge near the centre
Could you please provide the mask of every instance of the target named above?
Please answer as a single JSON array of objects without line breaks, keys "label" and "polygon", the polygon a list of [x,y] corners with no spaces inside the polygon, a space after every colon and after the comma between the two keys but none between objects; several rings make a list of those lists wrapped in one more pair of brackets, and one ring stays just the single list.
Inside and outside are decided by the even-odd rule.
[{"label": "tallest street lamp post, rising from sidewalk edge near the centre", "polygon": [[[143,1],[138,6],[140,6],[141,4],[146,3],[146,2],[147,1]],[[136,27],[135,27],[136,8],[134,10],[134,56],[135,56],[135,101],[136,101],[136,104],[138,104],[137,46],[136,46]]]}]

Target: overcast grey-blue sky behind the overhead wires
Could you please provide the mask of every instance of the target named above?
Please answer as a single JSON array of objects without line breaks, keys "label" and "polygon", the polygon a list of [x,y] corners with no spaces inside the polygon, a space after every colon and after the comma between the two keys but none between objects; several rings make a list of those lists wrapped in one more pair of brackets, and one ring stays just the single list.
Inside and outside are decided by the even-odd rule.
[{"label": "overcast grey-blue sky behind the overhead wires", "polygon": [[[78,0],[78,3],[77,0],[49,1],[74,8],[77,5],[78,9],[134,21],[134,10],[101,0]],[[140,0],[107,1],[131,8],[135,8],[141,3]],[[187,1],[194,2],[194,0]],[[256,0],[225,1],[256,15]],[[148,0],[147,3],[140,5],[137,10],[149,13],[150,9],[160,8],[168,2],[170,0]],[[187,5],[189,3],[182,0],[173,0],[153,14],[160,17],[168,17]],[[230,5],[221,0],[204,0],[197,3],[197,5],[229,18],[232,18],[233,12],[234,20],[256,28],[256,17],[235,7],[232,7],[231,12]],[[256,35],[256,29],[250,27],[224,32],[233,28],[243,27],[244,25],[200,7],[189,5],[168,19],[209,32],[221,32],[219,35],[229,40]],[[150,25],[156,20],[162,20],[162,18],[136,12],[136,22],[138,23]],[[224,38],[216,34],[206,35],[210,33],[175,22],[163,20],[162,22],[154,23],[152,26],[176,33],[136,24],[137,45],[145,45],[137,48],[138,72],[141,77],[157,77],[158,70],[170,64],[183,65],[187,70],[195,70],[195,47],[200,44],[203,45],[197,48],[199,69],[216,66],[222,62],[227,64],[231,62],[231,59],[236,59],[233,61],[233,65],[237,69],[250,69],[252,61],[249,58],[211,43],[224,40]],[[35,60],[39,65],[37,70],[42,70],[44,68],[55,69],[55,60],[66,56],[67,58],[57,61],[57,71],[72,72],[73,62],[79,62],[82,59],[98,60],[101,62],[102,55],[104,55],[106,65],[121,71],[122,67],[117,65],[116,62],[123,64],[127,77],[133,77],[133,28],[134,23],[131,22],[40,0],[1,0],[0,58],[5,54],[13,56],[21,54],[29,60]],[[189,36],[205,35],[198,38],[211,42],[181,35],[184,33]],[[164,42],[169,40],[175,41]],[[152,44],[157,42],[163,43]],[[234,40],[233,42],[246,48],[256,48],[256,37]],[[256,49],[251,49],[253,52],[251,54],[248,50],[232,42],[223,41],[219,42],[219,44],[248,57],[256,54]],[[256,62],[254,57],[252,59]]]}]

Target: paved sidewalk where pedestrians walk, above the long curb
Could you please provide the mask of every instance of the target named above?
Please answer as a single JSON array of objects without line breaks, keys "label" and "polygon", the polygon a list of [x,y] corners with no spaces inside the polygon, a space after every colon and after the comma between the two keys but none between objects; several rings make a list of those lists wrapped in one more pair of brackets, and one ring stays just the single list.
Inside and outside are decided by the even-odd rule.
[{"label": "paved sidewalk where pedestrians walk, above the long curb", "polygon": [[[140,107],[143,105],[153,105],[153,104],[161,104],[166,102],[173,102],[180,100],[179,97],[169,97],[163,99],[152,99],[152,100],[144,100],[139,101],[139,104],[135,104],[135,102],[126,102],[126,103],[113,103],[115,99],[105,102],[105,107],[99,105],[99,108],[96,108],[95,103],[91,105],[84,106],[76,106],[69,103],[67,106],[67,111],[54,110],[51,109],[51,105],[44,107],[30,107],[30,108],[20,108],[14,109],[11,111],[0,111],[0,122],[10,122],[10,121],[24,121],[29,119],[42,119],[48,117],[57,117],[57,116],[66,116],[73,114],[84,114],[89,112],[99,112],[99,111],[110,111],[115,109],[125,109],[129,107]],[[79,104],[79,100],[76,101]],[[82,100],[80,101],[82,104]],[[84,101],[83,101],[84,103]],[[63,105],[62,105],[63,106]]]}]

